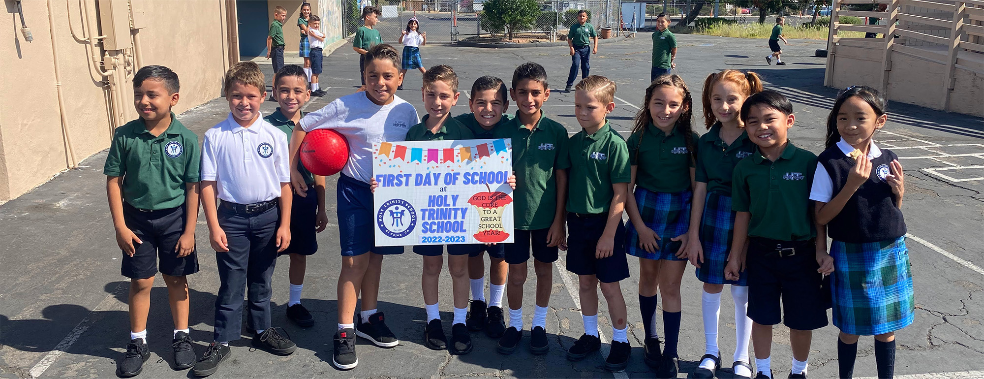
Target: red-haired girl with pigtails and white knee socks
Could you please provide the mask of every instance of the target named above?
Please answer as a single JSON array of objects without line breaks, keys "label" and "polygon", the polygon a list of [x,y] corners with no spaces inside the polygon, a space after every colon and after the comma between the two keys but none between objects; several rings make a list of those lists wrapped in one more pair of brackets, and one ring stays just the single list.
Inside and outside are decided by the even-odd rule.
[{"label": "red-haired girl with pigtails and white knee socks", "polygon": [[704,282],[701,310],[704,318],[705,350],[700,366],[691,377],[714,378],[721,367],[717,347],[717,324],[721,310],[721,291],[731,284],[735,302],[735,345],[731,370],[737,377],[751,378],[748,347],[752,320],[748,311],[746,276],[739,281],[724,279],[724,266],[731,254],[735,212],[731,210],[731,173],[738,161],[751,157],[756,145],[745,133],[739,113],[750,95],[762,92],[762,80],[753,72],[724,70],[710,74],[704,82],[704,119],[707,133],[697,148],[694,204],[691,207],[687,257],[697,267],[697,279]]}]

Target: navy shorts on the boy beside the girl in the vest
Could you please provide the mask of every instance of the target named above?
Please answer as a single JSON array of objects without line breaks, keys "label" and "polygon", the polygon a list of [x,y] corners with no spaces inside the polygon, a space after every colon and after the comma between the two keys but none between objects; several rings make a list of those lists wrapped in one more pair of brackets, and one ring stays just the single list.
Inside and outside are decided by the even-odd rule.
[{"label": "navy shorts on the boy beside the girl in the vest", "polygon": [[[748,317],[762,325],[780,321],[789,329],[826,327],[830,288],[817,272],[816,242],[789,242],[752,237],[748,246]],[[776,245],[794,247],[780,257]],[[826,291],[826,293],[825,293]],[[780,311],[781,301],[781,311]]]}]

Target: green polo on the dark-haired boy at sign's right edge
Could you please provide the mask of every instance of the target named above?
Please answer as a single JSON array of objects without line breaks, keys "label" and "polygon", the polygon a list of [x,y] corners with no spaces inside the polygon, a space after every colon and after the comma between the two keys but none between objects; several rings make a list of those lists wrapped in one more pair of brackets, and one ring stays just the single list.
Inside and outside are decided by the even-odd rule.
[{"label": "green polo on the dark-haired boy at sign's right edge", "polygon": [[513,170],[516,171],[515,227],[536,230],[550,227],[557,211],[555,171],[567,169],[567,129],[540,112],[540,119],[529,130],[519,114],[495,129],[495,138],[513,140]]}]

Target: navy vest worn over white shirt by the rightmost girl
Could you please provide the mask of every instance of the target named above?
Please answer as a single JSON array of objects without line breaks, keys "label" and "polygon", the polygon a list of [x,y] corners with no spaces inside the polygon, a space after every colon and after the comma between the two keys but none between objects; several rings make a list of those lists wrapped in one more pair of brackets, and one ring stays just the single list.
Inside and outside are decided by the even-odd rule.
[{"label": "navy vest worn over white shirt by the rightmost girl", "polygon": [[[854,192],[844,209],[827,224],[830,238],[851,243],[879,242],[905,235],[902,211],[895,204],[892,186],[885,181],[891,173],[890,164],[896,159],[892,151],[882,149],[882,156],[872,159],[868,181]],[[844,156],[836,146],[817,158],[830,174],[833,196],[847,184],[847,175],[855,160]]]}]

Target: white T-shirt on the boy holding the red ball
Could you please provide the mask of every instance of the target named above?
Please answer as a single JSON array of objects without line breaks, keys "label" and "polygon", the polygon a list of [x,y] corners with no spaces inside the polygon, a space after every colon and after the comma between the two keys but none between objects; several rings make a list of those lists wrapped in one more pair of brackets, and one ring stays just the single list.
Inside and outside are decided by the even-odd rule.
[{"label": "white T-shirt on the boy holding the red ball", "polygon": [[[406,131],[419,123],[417,110],[397,95],[386,105],[376,105],[366,93],[336,98],[325,107],[301,118],[305,132],[335,129],[348,140],[348,162],[341,173],[369,183],[372,178],[372,144],[406,140]],[[282,134],[282,133],[281,133]]]}]

